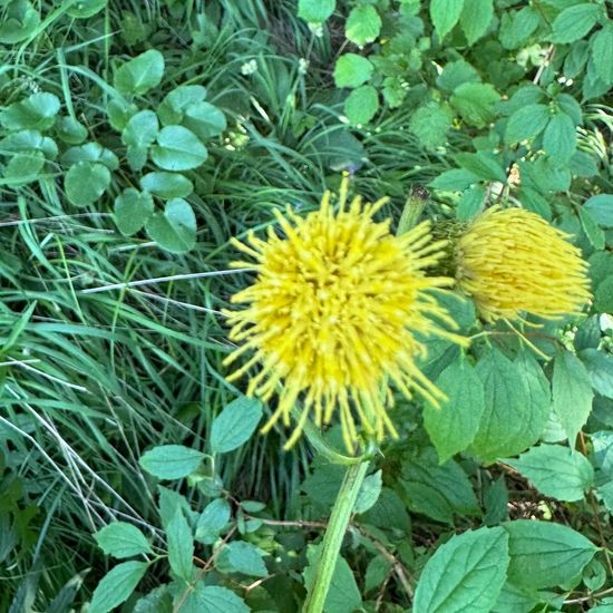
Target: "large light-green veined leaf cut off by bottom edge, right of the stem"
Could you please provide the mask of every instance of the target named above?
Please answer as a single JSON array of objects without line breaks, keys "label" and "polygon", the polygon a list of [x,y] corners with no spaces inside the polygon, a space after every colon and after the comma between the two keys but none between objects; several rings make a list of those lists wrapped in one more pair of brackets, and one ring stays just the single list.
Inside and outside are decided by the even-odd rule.
[{"label": "large light-green veined leaf cut off by bottom edge, right of the stem", "polygon": [[416,613],[489,611],[506,581],[508,535],[503,528],[467,531],[428,560],[417,590]]}]

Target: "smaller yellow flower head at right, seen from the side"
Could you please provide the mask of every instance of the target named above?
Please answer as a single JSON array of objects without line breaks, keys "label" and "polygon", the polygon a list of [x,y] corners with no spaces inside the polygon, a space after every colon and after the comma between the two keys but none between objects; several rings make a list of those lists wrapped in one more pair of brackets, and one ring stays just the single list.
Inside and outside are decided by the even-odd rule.
[{"label": "smaller yellow flower head at right, seen from the side", "polygon": [[587,264],[570,236],[524,208],[494,206],[455,246],[458,286],[489,321],[577,314],[590,300]]}]

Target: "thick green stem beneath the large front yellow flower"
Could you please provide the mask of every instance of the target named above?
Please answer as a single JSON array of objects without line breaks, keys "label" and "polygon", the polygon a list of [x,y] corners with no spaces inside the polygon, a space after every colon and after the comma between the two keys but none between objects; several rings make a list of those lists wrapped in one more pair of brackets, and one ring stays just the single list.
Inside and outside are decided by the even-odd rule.
[{"label": "thick green stem beneath the large front yellow flower", "polygon": [[344,533],[347,532],[351,512],[353,510],[353,505],[358,498],[369,464],[370,461],[367,459],[360,464],[348,466],[347,468],[339,495],[332,507],[332,514],[330,515],[325,535],[323,536],[323,545],[317,564],[315,578],[306,596],[306,602],[302,610],[303,613],[321,613],[323,611],[325,596],[328,595],[332,575],[337,567]]}]

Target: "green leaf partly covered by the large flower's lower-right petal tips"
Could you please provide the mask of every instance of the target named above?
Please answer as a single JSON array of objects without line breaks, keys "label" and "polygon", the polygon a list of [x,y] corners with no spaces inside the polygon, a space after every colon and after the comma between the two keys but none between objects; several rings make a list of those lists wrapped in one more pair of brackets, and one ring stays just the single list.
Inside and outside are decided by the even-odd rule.
[{"label": "green leaf partly covered by the large flower's lower-right petal tips", "polygon": [[424,426],[442,464],[473,442],[485,410],[485,395],[481,380],[466,359],[448,366],[436,383],[448,400],[438,409],[426,405]]}]

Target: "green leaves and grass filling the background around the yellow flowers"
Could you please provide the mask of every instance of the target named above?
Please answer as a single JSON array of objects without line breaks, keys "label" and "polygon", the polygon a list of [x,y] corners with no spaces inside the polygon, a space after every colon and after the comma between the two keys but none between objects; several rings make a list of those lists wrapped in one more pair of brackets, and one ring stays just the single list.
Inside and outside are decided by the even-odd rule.
[{"label": "green leaves and grass filling the background around the yellow flowers", "polygon": [[448,299],[450,402],[399,400],[327,611],[612,611],[611,11],[0,1],[0,611],[300,611],[342,468],[254,434],[220,311],[230,239],[342,171],[395,223],[416,185],[435,222],[520,203],[594,301],[516,330]]}]

